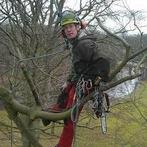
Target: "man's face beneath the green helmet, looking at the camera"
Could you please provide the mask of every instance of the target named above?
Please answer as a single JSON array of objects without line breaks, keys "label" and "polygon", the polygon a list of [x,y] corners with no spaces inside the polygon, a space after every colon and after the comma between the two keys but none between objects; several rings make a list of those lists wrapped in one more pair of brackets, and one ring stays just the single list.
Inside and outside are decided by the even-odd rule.
[{"label": "man's face beneath the green helmet, looking at the camera", "polygon": [[65,33],[67,39],[73,39],[78,34],[79,26],[71,23],[71,24],[65,25],[63,27],[63,30],[64,30],[64,33]]}]

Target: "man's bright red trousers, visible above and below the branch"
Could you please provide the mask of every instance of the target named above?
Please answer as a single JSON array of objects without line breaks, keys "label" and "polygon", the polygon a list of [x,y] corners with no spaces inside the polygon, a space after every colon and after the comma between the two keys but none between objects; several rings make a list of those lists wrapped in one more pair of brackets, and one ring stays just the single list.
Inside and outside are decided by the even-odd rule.
[{"label": "man's bright red trousers, visible above and below the branch", "polygon": [[[65,102],[65,108],[70,108],[72,107],[75,101],[75,85],[74,84],[68,85],[66,90],[68,95]],[[57,147],[71,147],[73,137],[74,137],[74,123],[72,122],[71,118],[68,118],[64,123],[62,134],[60,136],[60,140]]]}]

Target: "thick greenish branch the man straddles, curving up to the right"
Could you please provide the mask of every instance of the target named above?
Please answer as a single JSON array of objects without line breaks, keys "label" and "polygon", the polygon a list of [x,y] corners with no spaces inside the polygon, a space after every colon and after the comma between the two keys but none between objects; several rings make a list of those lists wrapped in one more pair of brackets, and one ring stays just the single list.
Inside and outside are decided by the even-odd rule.
[{"label": "thick greenish branch the man straddles, curving up to the right", "polygon": [[[102,91],[106,91],[112,87],[115,87],[125,81],[135,79],[137,77],[141,76],[141,74],[135,74],[131,76],[124,77],[116,82],[110,83],[107,86],[104,86],[101,88]],[[91,100],[93,96],[93,92],[86,96],[84,98],[84,101],[82,101],[81,105],[84,105],[87,101]],[[65,112],[60,112],[60,113],[52,113],[52,112],[44,112],[44,111],[39,111],[36,109],[32,109],[28,106],[20,104],[18,101],[12,99],[11,94],[9,91],[6,89],[0,88],[0,99],[3,100],[6,104],[11,105],[12,110],[15,112],[20,112],[22,114],[30,116],[32,120],[36,118],[44,118],[44,119],[49,119],[52,121],[57,121],[57,120],[64,120],[67,117],[70,117],[72,108],[65,111]]]}]

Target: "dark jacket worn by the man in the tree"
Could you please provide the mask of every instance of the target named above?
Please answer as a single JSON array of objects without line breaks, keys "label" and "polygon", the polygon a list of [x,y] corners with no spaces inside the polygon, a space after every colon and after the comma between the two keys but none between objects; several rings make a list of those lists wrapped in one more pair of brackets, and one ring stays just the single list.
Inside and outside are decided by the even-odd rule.
[{"label": "dark jacket worn by the man in the tree", "polygon": [[81,75],[94,80],[100,76],[108,81],[109,61],[98,54],[96,38],[92,35],[83,36],[72,41],[73,69],[69,80],[77,81]]}]

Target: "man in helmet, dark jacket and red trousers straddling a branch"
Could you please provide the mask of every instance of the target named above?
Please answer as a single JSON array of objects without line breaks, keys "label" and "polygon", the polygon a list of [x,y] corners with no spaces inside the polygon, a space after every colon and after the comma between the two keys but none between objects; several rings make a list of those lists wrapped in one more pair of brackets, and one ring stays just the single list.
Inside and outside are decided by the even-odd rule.
[{"label": "man in helmet, dark jacket and red trousers straddling a branch", "polygon": [[[66,43],[71,47],[72,71],[67,82],[63,85],[63,92],[59,96],[54,110],[68,109],[73,106],[76,99],[76,85],[80,79],[91,80],[92,84],[97,77],[108,81],[109,61],[97,52],[96,37],[83,33],[85,28],[82,21],[72,11],[64,11],[61,15],[60,25]],[[90,83],[88,83],[90,84]],[[88,93],[85,89],[85,95]],[[80,110],[81,111],[81,110]],[[47,125],[47,121],[44,120]],[[71,118],[64,120],[64,128],[56,147],[71,147],[74,136],[74,123]]]}]

